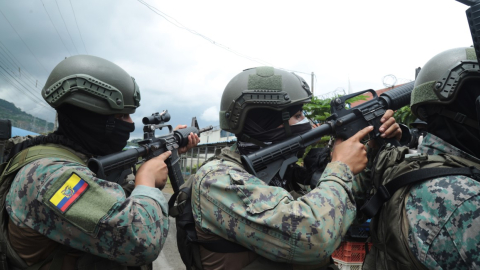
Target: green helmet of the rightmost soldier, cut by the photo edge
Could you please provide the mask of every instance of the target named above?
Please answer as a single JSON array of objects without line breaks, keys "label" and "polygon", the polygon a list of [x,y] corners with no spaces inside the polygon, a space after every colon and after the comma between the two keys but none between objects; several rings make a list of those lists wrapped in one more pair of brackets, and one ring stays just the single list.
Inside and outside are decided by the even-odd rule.
[{"label": "green helmet of the rightmost soldier, cut by the photo edge", "polygon": [[452,103],[462,84],[472,78],[480,78],[473,48],[455,48],[437,54],[425,64],[415,80],[410,99],[412,113],[422,120],[427,120],[428,115],[442,113],[439,108]]}]

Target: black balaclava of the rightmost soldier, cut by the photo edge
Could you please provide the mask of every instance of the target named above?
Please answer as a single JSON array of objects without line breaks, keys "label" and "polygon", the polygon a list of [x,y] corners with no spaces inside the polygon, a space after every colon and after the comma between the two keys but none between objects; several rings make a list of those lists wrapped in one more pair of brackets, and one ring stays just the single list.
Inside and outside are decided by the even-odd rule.
[{"label": "black balaclava of the rightmost soldier, cut by the photo edge", "polygon": [[[466,81],[460,90],[455,101],[445,108],[478,121],[475,100],[480,96],[480,80]],[[478,129],[440,115],[428,116],[427,126],[428,132],[462,151],[480,158],[480,133]]]}]

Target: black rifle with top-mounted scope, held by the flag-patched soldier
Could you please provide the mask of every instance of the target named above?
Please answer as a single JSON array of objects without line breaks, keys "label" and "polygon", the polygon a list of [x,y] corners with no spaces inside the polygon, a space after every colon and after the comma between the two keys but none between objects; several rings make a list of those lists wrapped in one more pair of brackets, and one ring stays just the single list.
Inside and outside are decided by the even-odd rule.
[{"label": "black rifle with top-mounted scope, held by the flag-patched soldier", "polygon": [[[88,160],[88,168],[94,172],[97,177],[108,181],[122,184],[127,175],[136,174],[136,165],[143,163],[151,158],[157,157],[166,151],[172,151],[172,155],[165,160],[168,168],[168,177],[175,192],[183,184],[183,176],[180,170],[178,156],[178,148],[187,146],[188,135],[193,132],[197,135],[211,130],[213,127],[208,126],[200,129],[198,122],[194,117],[192,126],[173,131],[171,125],[165,124],[170,120],[168,111],[162,113],[153,113],[151,116],[144,117],[142,122],[143,140],[138,142],[140,147],[128,149],[115,154],[102,157],[91,158]],[[167,127],[169,133],[166,135],[155,137],[155,130]],[[141,158],[141,159],[140,159]]]}]

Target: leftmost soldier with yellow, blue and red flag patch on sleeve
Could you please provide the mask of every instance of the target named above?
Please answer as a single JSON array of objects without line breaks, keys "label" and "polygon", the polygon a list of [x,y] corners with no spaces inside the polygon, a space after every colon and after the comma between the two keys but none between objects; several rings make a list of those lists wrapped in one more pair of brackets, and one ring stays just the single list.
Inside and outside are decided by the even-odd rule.
[{"label": "leftmost soldier with yellow, blue and red flag patch on sleeve", "polygon": [[[135,79],[105,59],[77,55],[53,69],[42,96],[59,127],[10,154],[0,187],[0,268],[151,268],[169,227],[160,189],[170,152],[140,167],[133,191],[85,166],[125,147],[140,106]],[[188,147],[198,141],[190,134]]]}]

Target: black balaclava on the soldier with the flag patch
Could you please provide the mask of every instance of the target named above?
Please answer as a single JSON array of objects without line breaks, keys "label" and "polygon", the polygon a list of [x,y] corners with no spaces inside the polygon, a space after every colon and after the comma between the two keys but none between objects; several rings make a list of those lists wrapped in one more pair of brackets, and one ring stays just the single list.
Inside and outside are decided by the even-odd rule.
[{"label": "black balaclava on the soldier with the flag patch", "polygon": [[[57,108],[58,135],[78,143],[93,155],[104,156],[119,152],[127,145],[134,123],[101,115],[85,109],[64,105]],[[107,128],[107,121],[111,128]]]}]

